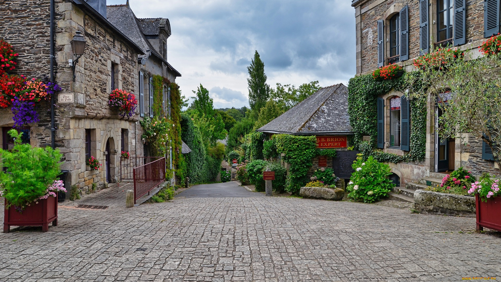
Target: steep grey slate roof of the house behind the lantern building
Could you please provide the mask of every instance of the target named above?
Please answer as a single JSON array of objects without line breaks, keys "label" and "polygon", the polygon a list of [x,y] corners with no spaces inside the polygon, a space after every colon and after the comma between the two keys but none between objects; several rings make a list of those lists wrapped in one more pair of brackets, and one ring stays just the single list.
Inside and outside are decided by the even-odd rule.
[{"label": "steep grey slate roof of the house behind the lantern building", "polygon": [[[148,58],[148,56],[153,55],[157,57],[160,61],[163,61],[170,71],[174,72],[176,76],[181,76],[181,74],[175,70],[163,57],[156,52],[153,46],[150,44],[148,39],[144,36],[142,32],[142,28],[140,21],[142,19],[136,18],[134,12],[130,9],[130,6],[127,4],[123,5],[109,5],[106,6],[106,18],[108,21],[119,29],[123,34],[125,34],[128,38],[134,41],[144,52],[145,55],[140,55],[140,58]],[[145,19],[149,20],[149,19]],[[167,19],[161,19],[168,23]],[[160,25],[160,21],[159,21]],[[158,32],[156,33],[158,34]],[[169,34],[170,34],[170,25],[169,25]],[[149,54],[149,55],[148,55]]]}]

